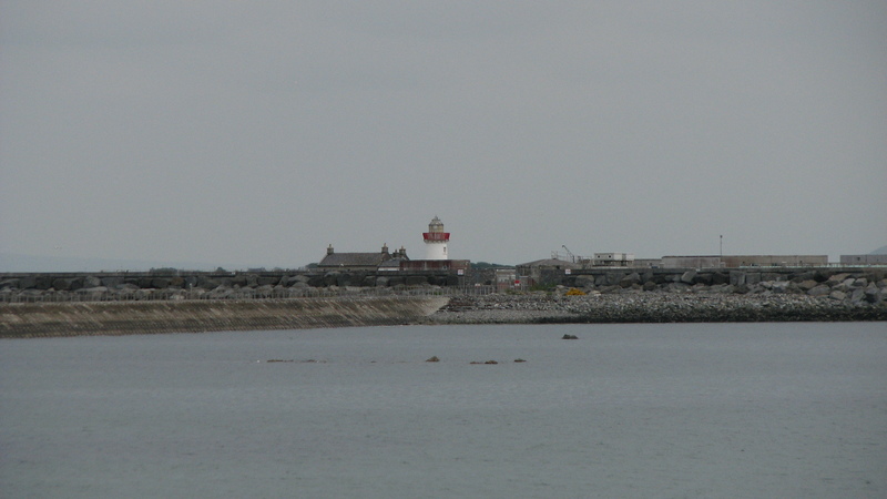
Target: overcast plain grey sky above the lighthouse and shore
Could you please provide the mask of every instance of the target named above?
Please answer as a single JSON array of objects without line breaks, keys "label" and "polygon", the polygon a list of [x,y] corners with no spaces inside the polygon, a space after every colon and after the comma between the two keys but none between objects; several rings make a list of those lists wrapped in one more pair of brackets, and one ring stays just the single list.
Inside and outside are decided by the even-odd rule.
[{"label": "overcast plain grey sky above the lighthouse and shore", "polygon": [[887,244],[887,2],[0,0],[0,252]]}]

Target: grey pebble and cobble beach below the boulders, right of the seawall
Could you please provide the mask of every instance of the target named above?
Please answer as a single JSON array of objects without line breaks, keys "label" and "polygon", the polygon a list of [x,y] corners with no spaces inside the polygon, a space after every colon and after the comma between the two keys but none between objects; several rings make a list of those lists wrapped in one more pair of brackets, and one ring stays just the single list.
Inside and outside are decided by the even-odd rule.
[{"label": "grey pebble and cobble beach below the boulders, right of the seawall", "polygon": [[633,292],[459,296],[425,324],[592,324],[887,320],[880,299],[853,302],[806,294]]}]

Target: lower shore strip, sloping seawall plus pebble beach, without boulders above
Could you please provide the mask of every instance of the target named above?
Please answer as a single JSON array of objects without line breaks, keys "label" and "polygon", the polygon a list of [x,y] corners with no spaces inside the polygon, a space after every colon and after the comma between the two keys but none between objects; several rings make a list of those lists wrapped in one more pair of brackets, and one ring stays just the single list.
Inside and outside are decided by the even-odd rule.
[{"label": "lower shore strip, sloping seawall plus pebble beach, without boulders above", "polygon": [[884,303],[807,295],[558,293],[0,304],[0,338],[453,324],[887,320]]}]

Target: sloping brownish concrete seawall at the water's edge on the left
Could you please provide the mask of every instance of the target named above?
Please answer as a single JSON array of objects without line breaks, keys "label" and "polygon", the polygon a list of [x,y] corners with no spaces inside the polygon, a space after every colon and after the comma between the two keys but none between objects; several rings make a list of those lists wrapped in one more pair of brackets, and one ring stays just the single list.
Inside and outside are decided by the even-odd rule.
[{"label": "sloping brownish concrete seawall at the water's edge on the left", "polygon": [[387,326],[420,320],[447,302],[427,296],[6,304],[0,337]]}]

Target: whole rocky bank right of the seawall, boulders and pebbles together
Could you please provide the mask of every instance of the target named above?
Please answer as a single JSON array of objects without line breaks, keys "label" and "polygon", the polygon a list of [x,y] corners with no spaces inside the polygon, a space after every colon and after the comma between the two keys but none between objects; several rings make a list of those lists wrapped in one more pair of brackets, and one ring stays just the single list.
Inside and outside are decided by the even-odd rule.
[{"label": "whole rocky bank right of the seawall, boulders and pebbles together", "polygon": [[[885,268],[583,269],[548,293],[453,297],[435,324],[887,320]],[[578,275],[577,275],[578,274]]]}]

